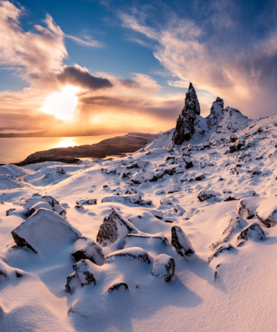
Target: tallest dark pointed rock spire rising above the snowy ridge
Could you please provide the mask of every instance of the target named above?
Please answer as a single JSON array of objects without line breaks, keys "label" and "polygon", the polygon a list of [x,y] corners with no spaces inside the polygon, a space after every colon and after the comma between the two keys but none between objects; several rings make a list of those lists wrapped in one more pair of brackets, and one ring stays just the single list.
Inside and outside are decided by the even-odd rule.
[{"label": "tallest dark pointed rock spire rising above the snowy ridge", "polygon": [[182,144],[190,140],[195,133],[195,119],[200,115],[200,105],[193,84],[190,83],[186,93],[185,107],[181,111],[181,116],[177,119],[176,129],[172,136],[172,142]]}]

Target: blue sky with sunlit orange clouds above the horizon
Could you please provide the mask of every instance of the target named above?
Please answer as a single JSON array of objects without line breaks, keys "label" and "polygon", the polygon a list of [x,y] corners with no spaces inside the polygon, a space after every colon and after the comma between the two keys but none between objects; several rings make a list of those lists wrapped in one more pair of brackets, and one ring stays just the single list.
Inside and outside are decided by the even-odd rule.
[{"label": "blue sky with sunlit orange clouds above the horizon", "polygon": [[189,82],[275,115],[277,1],[0,0],[0,132],[156,133]]}]

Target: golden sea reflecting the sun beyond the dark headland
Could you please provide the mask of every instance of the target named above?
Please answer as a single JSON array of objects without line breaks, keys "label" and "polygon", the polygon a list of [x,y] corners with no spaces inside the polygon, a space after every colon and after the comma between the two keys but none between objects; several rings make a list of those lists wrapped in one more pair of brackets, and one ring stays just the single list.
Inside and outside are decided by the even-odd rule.
[{"label": "golden sea reflecting the sun beyond the dark headland", "polygon": [[75,137],[0,138],[0,164],[20,163],[30,156],[30,154],[34,154],[37,151],[44,151],[55,147],[91,145],[107,138],[123,135],[125,133]]}]

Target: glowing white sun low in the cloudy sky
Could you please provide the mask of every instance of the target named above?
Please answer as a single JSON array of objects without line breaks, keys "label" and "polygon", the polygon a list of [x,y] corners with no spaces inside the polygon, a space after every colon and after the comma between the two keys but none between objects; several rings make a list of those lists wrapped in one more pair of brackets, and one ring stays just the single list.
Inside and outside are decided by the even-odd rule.
[{"label": "glowing white sun low in the cloudy sky", "polygon": [[42,111],[53,114],[56,118],[69,120],[72,118],[75,107],[78,104],[78,97],[75,95],[78,90],[75,86],[64,86],[62,92],[55,92],[49,95],[44,107],[42,107]]}]

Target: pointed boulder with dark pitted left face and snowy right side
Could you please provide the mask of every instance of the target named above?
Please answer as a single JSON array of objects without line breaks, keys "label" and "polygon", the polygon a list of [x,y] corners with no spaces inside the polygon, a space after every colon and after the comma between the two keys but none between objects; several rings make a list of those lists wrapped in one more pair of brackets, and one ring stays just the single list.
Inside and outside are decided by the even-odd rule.
[{"label": "pointed boulder with dark pitted left face and snowy right side", "polygon": [[116,243],[118,249],[122,249],[124,246],[124,237],[130,232],[134,232],[135,228],[123,218],[121,214],[112,210],[111,214],[104,219],[103,223],[100,225],[96,241],[102,247],[109,246],[111,243]]}]

